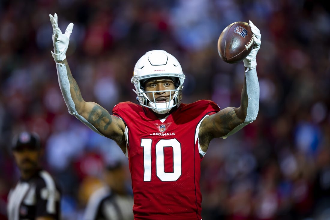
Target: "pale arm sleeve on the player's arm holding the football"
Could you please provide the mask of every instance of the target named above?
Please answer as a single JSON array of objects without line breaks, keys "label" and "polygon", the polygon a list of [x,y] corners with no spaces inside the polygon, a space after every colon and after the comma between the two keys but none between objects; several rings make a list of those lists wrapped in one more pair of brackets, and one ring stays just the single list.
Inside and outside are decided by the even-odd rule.
[{"label": "pale arm sleeve on the player's arm holding the football", "polygon": [[244,126],[248,125],[249,123],[253,122],[258,115],[259,111],[259,82],[257,71],[255,68],[249,69],[245,72],[245,79],[246,79],[246,89],[248,93],[248,109],[247,109],[247,116],[245,121],[237,126],[236,128],[232,129],[228,134],[222,136],[222,138],[226,138],[235,132],[242,129]]}]

